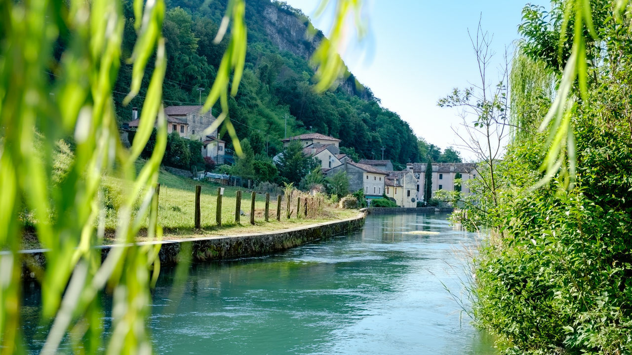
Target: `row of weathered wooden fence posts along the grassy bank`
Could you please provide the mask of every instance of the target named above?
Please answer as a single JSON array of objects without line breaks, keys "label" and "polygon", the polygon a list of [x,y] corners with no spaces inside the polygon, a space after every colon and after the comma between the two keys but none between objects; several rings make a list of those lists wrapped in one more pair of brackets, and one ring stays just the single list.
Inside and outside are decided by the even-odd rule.
[{"label": "row of weathered wooden fence posts along the grassy bank", "polygon": [[[222,197],[223,197],[223,188],[217,188],[217,208],[215,214],[215,221],[217,226],[222,225]],[[155,195],[154,200],[152,201],[152,210],[157,212],[158,210],[158,196],[160,193],[160,184],[156,184],[155,186]],[[195,185],[195,228],[200,229],[202,225],[202,217],[201,217],[201,208],[200,208],[200,196],[202,195],[202,186]],[[252,196],[250,198],[250,224],[255,224],[255,198],[257,197],[257,193],[253,191]],[[291,203],[290,199],[287,200],[287,214],[288,219],[290,218],[291,211]],[[276,219],[281,220],[281,195],[277,195],[277,206],[276,206]],[[307,198],[303,198],[303,206],[301,210],[301,197],[298,196],[296,200],[296,217],[300,216],[301,212],[305,217],[307,217]],[[235,222],[240,223],[241,217],[241,190],[237,191],[236,200],[235,200]],[[155,216],[157,219],[157,215]],[[265,210],[264,210],[264,219],[265,222],[270,221],[270,193],[265,193]],[[157,222],[157,221],[156,221]]]}]

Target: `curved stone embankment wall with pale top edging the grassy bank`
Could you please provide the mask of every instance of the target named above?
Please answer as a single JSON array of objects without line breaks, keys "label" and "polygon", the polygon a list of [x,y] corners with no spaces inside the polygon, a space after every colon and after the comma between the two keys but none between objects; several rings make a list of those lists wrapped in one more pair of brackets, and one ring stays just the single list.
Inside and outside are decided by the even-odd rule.
[{"label": "curved stone embankment wall with pale top edging the grassy bank", "polygon": [[[366,212],[362,211],[356,217],[349,219],[322,222],[282,231],[150,241],[135,245],[162,244],[159,253],[162,265],[178,263],[181,250],[190,250],[193,262],[243,258],[274,253],[353,231],[364,225],[366,215]],[[120,244],[112,244],[98,248],[102,249],[102,254],[105,257],[113,248],[122,247]],[[23,255],[25,262],[23,278],[33,278],[35,275],[31,270],[44,265],[46,250],[23,250],[20,251],[20,254]]]}]

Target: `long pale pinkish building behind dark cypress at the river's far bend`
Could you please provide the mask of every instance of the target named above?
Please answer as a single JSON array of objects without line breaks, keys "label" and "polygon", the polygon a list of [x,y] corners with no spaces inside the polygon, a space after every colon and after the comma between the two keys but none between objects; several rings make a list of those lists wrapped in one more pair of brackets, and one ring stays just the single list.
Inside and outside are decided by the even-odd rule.
[{"label": "long pale pinkish building behind dark cypress at the river's far bend", "polygon": [[[420,201],[424,200],[426,166],[425,163],[406,164],[406,170],[413,172],[415,178],[418,179],[416,190],[417,199]],[[459,188],[455,186],[455,180],[461,179],[461,193],[469,195],[470,189],[466,186],[465,181],[476,178],[476,175],[475,163],[432,163],[431,191],[433,193],[437,190],[454,191]]]}]

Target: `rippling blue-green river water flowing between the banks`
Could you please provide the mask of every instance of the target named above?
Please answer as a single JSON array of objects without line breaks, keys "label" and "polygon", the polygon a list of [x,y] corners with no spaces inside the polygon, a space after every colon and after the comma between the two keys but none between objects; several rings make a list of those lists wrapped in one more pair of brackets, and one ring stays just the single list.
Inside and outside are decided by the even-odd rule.
[{"label": "rippling blue-green river water flowing between the banks", "polygon": [[[179,300],[169,296],[174,270],[163,270],[149,322],[155,352],[494,354],[491,339],[471,327],[446,291],[466,299],[464,250],[477,243],[446,217],[369,215],[348,235],[270,256],[195,264]],[[39,299],[37,287],[30,288],[25,309]],[[35,320],[30,324],[27,316],[25,332],[37,353],[42,335]]]}]

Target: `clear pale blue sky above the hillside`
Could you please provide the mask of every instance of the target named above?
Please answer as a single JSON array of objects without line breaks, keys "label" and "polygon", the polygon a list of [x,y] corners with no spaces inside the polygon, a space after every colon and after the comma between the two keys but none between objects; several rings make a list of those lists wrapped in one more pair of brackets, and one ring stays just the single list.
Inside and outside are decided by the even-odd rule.
[{"label": "clear pale blue sky above the hillside", "polygon": [[[496,55],[489,76],[497,80],[504,48],[511,50],[518,39],[521,9],[528,2],[368,0],[369,43],[360,48],[349,45],[343,58],[351,73],[371,88],[384,107],[407,121],[416,135],[446,148],[458,141],[451,127],[456,128],[461,117],[456,109],[438,107],[437,100],[455,87],[471,86],[478,78],[468,29],[475,33],[482,16],[483,30],[494,35]],[[319,0],[286,3],[310,16],[327,35],[332,11],[313,18]],[[547,1],[530,3],[549,8]]]}]

